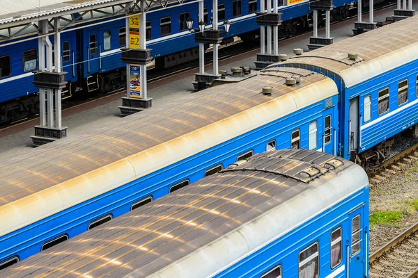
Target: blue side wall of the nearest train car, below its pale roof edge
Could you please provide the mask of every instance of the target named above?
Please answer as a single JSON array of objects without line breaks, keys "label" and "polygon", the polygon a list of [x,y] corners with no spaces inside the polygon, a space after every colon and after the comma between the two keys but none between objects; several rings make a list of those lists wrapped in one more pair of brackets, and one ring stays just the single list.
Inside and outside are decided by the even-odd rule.
[{"label": "blue side wall of the nearest train car, below its pale roof edge", "polygon": [[[341,239],[333,238],[332,234],[338,235],[339,231]],[[286,234],[237,261],[215,277],[263,278],[271,270],[277,271],[274,277],[279,272],[279,277],[304,277],[300,273],[300,256],[312,245],[318,246],[317,277],[368,277],[368,263],[364,259],[369,254],[368,238],[369,187],[341,200],[326,211],[318,212],[318,215],[298,227],[288,227]],[[334,240],[341,240],[341,247],[334,245],[336,248],[332,248]],[[359,250],[356,240],[359,240]]]}]

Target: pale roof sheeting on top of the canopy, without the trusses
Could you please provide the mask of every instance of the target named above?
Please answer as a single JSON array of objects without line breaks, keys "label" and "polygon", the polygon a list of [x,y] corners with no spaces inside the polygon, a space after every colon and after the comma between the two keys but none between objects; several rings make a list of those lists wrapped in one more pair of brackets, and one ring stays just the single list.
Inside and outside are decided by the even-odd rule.
[{"label": "pale roof sheeting on top of the canopy, without the trusses", "polygon": [[112,2],[119,3],[119,1],[115,0],[3,0],[1,1],[0,9],[0,27],[1,24],[54,15],[79,8],[88,8],[102,3],[111,5]]}]

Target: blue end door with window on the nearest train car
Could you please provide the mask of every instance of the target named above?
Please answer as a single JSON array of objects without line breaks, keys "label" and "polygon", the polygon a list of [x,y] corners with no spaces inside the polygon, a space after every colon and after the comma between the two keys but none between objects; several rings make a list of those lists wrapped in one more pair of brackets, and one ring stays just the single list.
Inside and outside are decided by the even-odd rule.
[{"label": "blue end door with window on the nearest train car", "polygon": [[348,260],[348,275],[347,277],[364,277],[364,206],[357,208],[355,211],[349,213],[350,234],[348,245],[346,245],[347,260]]}]

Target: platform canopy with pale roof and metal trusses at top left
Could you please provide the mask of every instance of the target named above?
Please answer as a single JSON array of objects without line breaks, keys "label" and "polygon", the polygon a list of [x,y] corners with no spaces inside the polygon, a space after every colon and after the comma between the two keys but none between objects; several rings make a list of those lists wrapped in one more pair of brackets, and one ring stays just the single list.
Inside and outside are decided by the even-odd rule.
[{"label": "platform canopy with pale roof and metal trusses at top left", "polygon": [[52,26],[52,20],[59,17],[62,31],[79,23],[141,13],[141,1],[145,1],[146,12],[167,8],[171,3],[182,4],[184,0],[2,0],[0,42],[37,33],[38,22],[43,19]]}]

